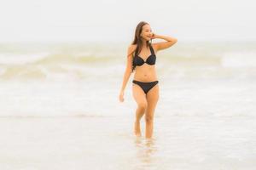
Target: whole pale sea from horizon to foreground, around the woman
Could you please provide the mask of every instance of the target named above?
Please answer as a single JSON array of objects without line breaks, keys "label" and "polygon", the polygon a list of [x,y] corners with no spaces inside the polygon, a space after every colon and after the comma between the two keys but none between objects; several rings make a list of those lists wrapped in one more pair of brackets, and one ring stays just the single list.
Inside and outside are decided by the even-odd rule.
[{"label": "whole pale sea from horizon to foreground, around the woman", "polygon": [[256,166],[256,42],[177,42],[158,52],[153,139],[132,133],[133,75],[118,100],[128,45],[1,43],[1,169]]}]

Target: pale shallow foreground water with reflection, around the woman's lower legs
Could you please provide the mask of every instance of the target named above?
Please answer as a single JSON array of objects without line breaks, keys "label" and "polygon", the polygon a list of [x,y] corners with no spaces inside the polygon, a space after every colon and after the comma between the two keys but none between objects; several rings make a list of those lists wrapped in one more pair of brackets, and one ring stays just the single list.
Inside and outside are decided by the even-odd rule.
[{"label": "pale shallow foreground water with reflection, around the woman's lower legs", "polygon": [[158,116],[152,139],[132,135],[132,116],[9,117],[0,122],[0,165],[6,170],[255,167],[251,117]]}]

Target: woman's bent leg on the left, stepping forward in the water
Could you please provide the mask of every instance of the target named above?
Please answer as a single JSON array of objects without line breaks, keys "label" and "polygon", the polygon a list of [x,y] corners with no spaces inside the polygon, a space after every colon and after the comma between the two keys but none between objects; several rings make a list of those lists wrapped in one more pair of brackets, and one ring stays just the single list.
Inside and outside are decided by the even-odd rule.
[{"label": "woman's bent leg on the left, stepping forward in the water", "polygon": [[134,133],[137,136],[141,136],[142,133],[140,128],[140,120],[147,109],[148,103],[146,99],[146,94],[144,93],[143,89],[137,84],[132,84],[132,95],[137,103],[136,120],[134,122]]}]

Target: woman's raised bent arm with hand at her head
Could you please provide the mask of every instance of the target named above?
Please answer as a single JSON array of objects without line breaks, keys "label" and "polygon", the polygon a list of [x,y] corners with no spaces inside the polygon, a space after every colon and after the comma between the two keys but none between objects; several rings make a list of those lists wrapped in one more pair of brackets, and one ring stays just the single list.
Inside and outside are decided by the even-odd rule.
[{"label": "woman's raised bent arm with hand at her head", "polygon": [[152,39],[154,38],[160,38],[166,40],[166,42],[156,42],[154,43],[154,48],[159,51],[161,49],[170,48],[173,44],[177,42],[177,38],[175,37],[168,37],[168,36],[160,36],[157,34],[153,34]]}]

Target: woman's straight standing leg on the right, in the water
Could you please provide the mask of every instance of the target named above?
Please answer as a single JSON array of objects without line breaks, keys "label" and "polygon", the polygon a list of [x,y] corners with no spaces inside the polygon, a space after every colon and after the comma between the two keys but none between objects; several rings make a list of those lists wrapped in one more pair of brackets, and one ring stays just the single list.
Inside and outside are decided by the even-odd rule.
[{"label": "woman's straight standing leg on the right, in the water", "polygon": [[145,115],[146,122],[146,138],[151,138],[154,127],[154,109],[159,99],[159,85],[156,84],[154,88],[151,88],[147,94],[148,108]]}]

